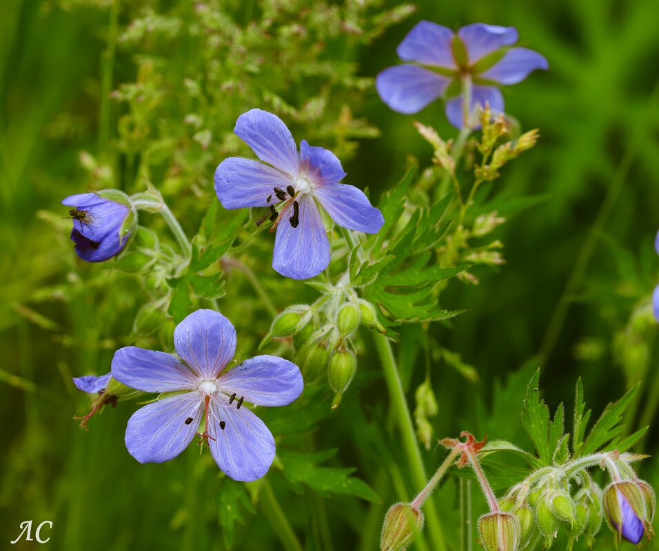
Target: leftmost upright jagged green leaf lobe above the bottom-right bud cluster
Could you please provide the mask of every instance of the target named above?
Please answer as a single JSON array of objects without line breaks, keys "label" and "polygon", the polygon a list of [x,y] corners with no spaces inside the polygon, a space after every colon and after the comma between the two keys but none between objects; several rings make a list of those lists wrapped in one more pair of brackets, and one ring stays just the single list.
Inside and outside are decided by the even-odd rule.
[{"label": "leftmost upright jagged green leaf lobe above the bottom-right bud cluster", "polygon": [[549,407],[540,397],[540,370],[538,369],[527,386],[522,412],[522,424],[533,442],[543,465],[551,465],[558,442],[563,436],[564,408],[561,403],[556,409],[554,421],[550,422]]}]

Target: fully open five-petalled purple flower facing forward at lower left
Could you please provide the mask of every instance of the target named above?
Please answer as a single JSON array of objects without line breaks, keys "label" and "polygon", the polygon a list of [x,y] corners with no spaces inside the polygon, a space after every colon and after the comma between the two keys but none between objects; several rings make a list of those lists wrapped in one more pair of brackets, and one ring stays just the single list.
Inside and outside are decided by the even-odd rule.
[{"label": "fully open five-petalled purple flower facing forward at lower left", "polygon": [[[256,356],[222,373],[236,350],[236,330],[221,313],[197,310],[174,330],[179,358],[127,346],[114,353],[112,377],[145,392],[176,395],[137,410],[125,443],[140,463],[161,463],[181,453],[197,434],[234,480],[261,478],[274,459],[274,438],[243,406],[285,406],[303,389],[298,366],[274,356]],[[241,407],[243,406],[243,407]],[[203,422],[203,433],[197,433]]]}]

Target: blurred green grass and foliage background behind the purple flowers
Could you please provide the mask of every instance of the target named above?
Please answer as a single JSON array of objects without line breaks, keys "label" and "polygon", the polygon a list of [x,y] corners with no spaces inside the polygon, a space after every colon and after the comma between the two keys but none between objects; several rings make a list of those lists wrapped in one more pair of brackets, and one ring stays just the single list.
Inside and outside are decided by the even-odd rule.
[{"label": "blurred green grass and foliage background behind the purple flowers", "polygon": [[[375,12],[396,6],[369,4],[378,4]],[[48,543],[53,549],[224,548],[217,523],[220,504],[212,490],[218,475],[207,454],[199,461],[190,449],[168,464],[140,466],[123,447],[132,406],[95,417],[88,433],[71,419],[85,411],[87,400],[70,377],[108,371],[117,344],[129,344],[132,315],[143,298],[132,291],[130,277],[77,261],[68,241],[69,223],[59,220],[65,214],[59,200],[108,182],[134,191],[139,178],[148,176],[172,200],[186,229],[194,231],[205,210],[196,205],[214,200],[214,167],[240,150],[231,136],[235,118],[250,107],[275,110],[285,118],[287,105],[298,113],[290,113],[296,138],[333,146],[345,159],[347,181],[379,196],[403,176],[412,156],[421,167],[430,164],[432,151],[412,121],[434,125],[446,138],[454,136],[440,102],[418,116],[397,114],[361,79],[398,63],[396,45],[420,19],[454,28],[476,21],[514,25],[521,43],[545,54],[551,67],[505,91],[507,112],[525,129],[540,128],[542,138],[496,183],[496,193],[508,200],[501,201],[500,211],[507,216],[505,209],[511,210],[497,233],[507,264],[478,273],[477,287],[453,283],[442,295],[445,307],[469,313],[450,327],[437,327],[434,335],[475,366],[478,381],[438,368],[436,435],[468,428],[517,438],[529,447],[518,423],[520,392],[533,366],[541,364],[551,408],[560,401],[570,404],[578,376],[595,413],[642,380],[627,426],[631,432],[652,423],[638,451],[657,453],[659,351],[647,304],[659,279],[653,251],[659,228],[659,3],[420,1],[407,19],[372,37],[348,27],[334,32],[332,19],[321,10],[361,13],[355,17],[367,21],[365,29],[383,25],[376,18],[369,21],[370,12],[361,12],[360,5],[2,3],[0,533],[5,548],[26,519],[54,522]],[[210,21],[207,15],[200,22],[199,6],[209,13],[221,10],[222,16]],[[277,14],[274,28],[282,22],[290,28],[274,32],[272,41],[256,33],[252,37],[250,21],[271,9]],[[145,18],[143,28],[128,27],[138,17]],[[216,49],[206,40],[213,25],[221,34]],[[229,28],[245,33],[222,34]],[[310,56],[315,56],[313,63]],[[206,94],[193,90],[194,75],[202,70],[212,90]],[[124,83],[132,85],[121,88]],[[305,96],[312,94],[324,100],[308,105]],[[188,113],[196,113],[201,123],[184,122]],[[81,158],[83,151],[93,158]],[[514,200],[523,196],[542,200],[513,209]],[[227,289],[230,294],[221,304],[234,308],[237,316],[240,308],[230,304],[230,297],[248,295],[250,287],[236,276]],[[278,307],[287,306],[280,302]],[[270,320],[263,313],[261,318],[254,326],[236,322],[239,342],[247,348],[267,331]],[[379,376],[374,359],[367,356],[360,365],[370,377]],[[521,366],[529,367],[514,375]],[[495,397],[495,386],[508,377],[507,393]],[[369,415],[386,410],[381,382],[362,393]],[[488,415],[488,408],[494,413]],[[371,445],[369,439],[350,428],[351,423],[370,426],[366,420],[354,421],[360,415],[354,407],[343,408],[321,424],[315,437],[340,448],[340,464],[358,466],[358,475],[377,491],[378,481],[365,460],[369,454],[361,450]],[[439,457],[438,450],[427,453],[429,469]],[[642,474],[656,486],[657,460],[645,463]],[[272,486],[303,534],[310,516],[305,497],[284,488],[276,477]],[[449,484],[438,497],[447,511],[454,491]],[[378,519],[395,499],[389,494],[385,490],[383,505],[371,516],[363,507],[328,500],[337,549],[366,548],[362,526],[378,532]],[[258,512],[267,512],[263,502]],[[279,548],[263,518],[257,514],[238,528],[235,549]],[[602,549],[613,549],[608,534],[600,541]],[[30,545],[38,547],[23,540],[14,548]],[[656,547],[656,541],[647,545]],[[313,549],[313,543],[307,548]]]}]

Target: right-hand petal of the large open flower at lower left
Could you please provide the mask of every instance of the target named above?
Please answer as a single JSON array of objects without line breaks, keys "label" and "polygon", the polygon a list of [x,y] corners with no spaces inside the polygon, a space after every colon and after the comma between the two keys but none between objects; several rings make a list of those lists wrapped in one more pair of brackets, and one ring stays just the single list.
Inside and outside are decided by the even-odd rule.
[{"label": "right-hand petal of the large open flower at lower left", "polygon": [[220,375],[217,386],[257,406],[286,406],[304,388],[300,368],[275,356],[256,356]]}]

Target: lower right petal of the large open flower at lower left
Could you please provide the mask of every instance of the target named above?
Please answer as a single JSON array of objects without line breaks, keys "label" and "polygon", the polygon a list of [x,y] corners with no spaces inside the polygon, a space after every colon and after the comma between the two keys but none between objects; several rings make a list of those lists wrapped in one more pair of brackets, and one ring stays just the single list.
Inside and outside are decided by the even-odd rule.
[{"label": "lower right petal of the large open flower at lower left", "polygon": [[[274,438],[265,423],[248,408],[211,402],[208,440],[221,470],[234,480],[251,482],[265,475],[274,459]],[[225,423],[224,429],[220,422]]]}]

